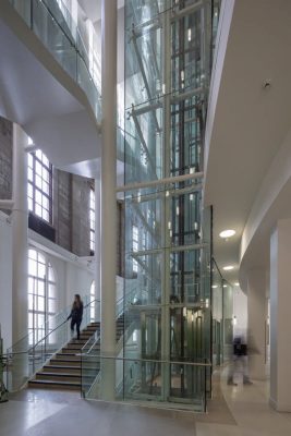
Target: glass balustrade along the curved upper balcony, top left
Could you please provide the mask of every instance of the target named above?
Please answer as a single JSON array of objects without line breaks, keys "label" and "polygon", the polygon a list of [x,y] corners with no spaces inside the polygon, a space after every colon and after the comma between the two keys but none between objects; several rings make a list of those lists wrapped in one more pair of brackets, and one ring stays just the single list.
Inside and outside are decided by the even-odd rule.
[{"label": "glass balustrade along the curved upper balcony, top left", "polygon": [[[101,119],[100,59],[84,43],[70,12],[57,0],[9,0],[63,70],[81,86]],[[92,59],[92,61],[90,61]]]}]

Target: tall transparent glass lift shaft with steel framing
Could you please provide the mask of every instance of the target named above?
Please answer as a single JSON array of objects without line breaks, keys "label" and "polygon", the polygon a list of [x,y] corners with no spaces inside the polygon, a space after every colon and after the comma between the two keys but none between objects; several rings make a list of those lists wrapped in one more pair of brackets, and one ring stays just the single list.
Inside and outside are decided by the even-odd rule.
[{"label": "tall transparent glass lift shaft with steel framing", "polygon": [[211,214],[202,210],[202,170],[213,22],[209,1],[125,0],[126,304],[117,385],[123,399],[197,410],[210,390]]}]

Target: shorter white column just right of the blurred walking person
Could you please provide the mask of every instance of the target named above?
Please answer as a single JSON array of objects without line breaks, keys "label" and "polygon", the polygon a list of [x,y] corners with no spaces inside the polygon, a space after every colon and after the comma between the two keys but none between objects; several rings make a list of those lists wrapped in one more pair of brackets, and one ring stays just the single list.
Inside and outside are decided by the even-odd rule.
[{"label": "shorter white column just right of the blurred walking person", "polygon": [[266,378],[266,271],[247,275],[247,347],[251,379]]}]

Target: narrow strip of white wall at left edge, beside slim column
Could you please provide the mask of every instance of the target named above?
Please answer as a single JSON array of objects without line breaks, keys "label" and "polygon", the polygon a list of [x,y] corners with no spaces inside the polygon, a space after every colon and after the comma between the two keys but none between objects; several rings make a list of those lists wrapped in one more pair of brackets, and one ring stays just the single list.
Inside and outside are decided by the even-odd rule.
[{"label": "narrow strip of white wall at left edge, beside slim column", "polygon": [[12,342],[12,228],[0,211],[0,324],[3,351]]}]

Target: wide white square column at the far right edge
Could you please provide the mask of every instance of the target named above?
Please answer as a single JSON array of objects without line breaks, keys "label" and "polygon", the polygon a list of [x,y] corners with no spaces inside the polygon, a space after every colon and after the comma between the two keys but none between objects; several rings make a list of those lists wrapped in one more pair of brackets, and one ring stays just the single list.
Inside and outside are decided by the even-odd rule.
[{"label": "wide white square column at the far right edge", "polygon": [[270,237],[270,404],[291,412],[291,220],[280,220]]}]

